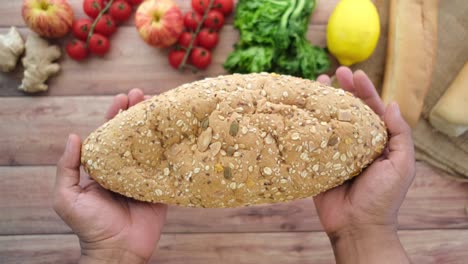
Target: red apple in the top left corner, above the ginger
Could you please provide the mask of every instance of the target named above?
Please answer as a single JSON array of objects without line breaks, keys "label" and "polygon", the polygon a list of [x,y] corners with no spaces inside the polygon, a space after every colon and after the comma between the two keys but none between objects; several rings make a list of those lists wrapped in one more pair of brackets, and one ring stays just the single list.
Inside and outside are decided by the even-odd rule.
[{"label": "red apple in the top left corner, above the ginger", "polygon": [[46,38],[65,36],[73,24],[73,10],[66,0],[24,0],[21,14],[32,31]]}]

